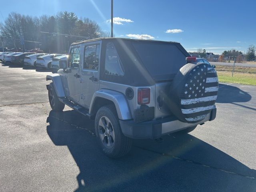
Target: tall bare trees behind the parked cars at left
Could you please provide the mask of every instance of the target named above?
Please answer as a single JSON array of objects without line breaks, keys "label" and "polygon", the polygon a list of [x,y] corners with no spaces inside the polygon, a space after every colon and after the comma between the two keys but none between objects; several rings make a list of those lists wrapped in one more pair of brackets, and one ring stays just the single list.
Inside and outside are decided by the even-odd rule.
[{"label": "tall bare trees behind the parked cars at left", "polygon": [[110,36],[110,32],[103,31],[95,21],[89,18],[78,18],[75,13],[67,11],[39,17],[12,12],[0,24],[0,36],[4,41],[4,46],[8,48],[22,47],[21,33],[24,36],[26,50],[40,48],[46,53],[64,53],[73,42]]}]

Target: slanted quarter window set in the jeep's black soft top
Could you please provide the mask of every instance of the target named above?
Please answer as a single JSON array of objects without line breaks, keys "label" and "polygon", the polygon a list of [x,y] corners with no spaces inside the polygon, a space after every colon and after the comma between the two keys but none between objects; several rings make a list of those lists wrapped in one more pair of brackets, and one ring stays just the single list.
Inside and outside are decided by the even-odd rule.
[{"label": "slanted quarter window set in the jeep's black soft top", "polygon": [[105,73],[124,76],[124,67],[113,43],[108,43],[106,47]]}]

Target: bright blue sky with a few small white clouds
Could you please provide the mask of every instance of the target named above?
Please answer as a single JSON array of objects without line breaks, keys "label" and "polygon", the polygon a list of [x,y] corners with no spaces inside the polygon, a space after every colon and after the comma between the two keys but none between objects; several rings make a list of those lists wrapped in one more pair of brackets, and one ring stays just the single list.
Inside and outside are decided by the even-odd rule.
[{"label": "bright blue sky with a few small white clouds", "polygon": [[[68,11],[110,31],[111,0],[8,0],[1,7],[0,22],[10,12],[41,16]],[[244,53],[256,45],[256,1],[114,0],[114,35],[180,42],[189,52]]]}]

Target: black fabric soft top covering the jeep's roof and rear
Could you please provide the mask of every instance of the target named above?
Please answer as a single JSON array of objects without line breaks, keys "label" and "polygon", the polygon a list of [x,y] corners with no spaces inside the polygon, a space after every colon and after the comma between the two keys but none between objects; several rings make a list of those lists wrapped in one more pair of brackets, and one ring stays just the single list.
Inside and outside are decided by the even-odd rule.
[{"label": "black fabric soft top covering the jeep's roof and rear", "polygon": [[[137,40],[128,38],[97,38],[92,40],[85,40],[82,42],[72,43],[71,45],[78,45],[87,42],[102,41],[102,51],[100,55],[100,66],[101,69],[105,68],[106,58],[106,44],[113,43],[118,56],[121,60],[122,66],[124,67],[124,76],[117,76],[113,74],[106,74],[104,70],[100,70],[100,80],[115,82],[118,84],[126,84],[130,86],[150,86],[154,85],[158,81],[172,80],[177,74],[178,70],[186,64],[186,57],[190,55],[178,42],[166,42],[158,40]],[[165,64],[169,72],[167,74],[152,74],[152,71],[161,68],[161,63],[149,67],[150,64],[147,60],[147,55],[150,55],[150,49],[148,44],[157,44],[165,47],[172,45],[176,47],[170,51],[165,51],[164,56],[168,58],[168,63]],[[145,48],[138,50],[136,46],[145,45]],[[153,61],[155,62],[155,61]],[[162,62],[163,63],[163,62]],[[160,67],[159,67],[160,66]],[[167,70],[167,71],[168,71]]]}]

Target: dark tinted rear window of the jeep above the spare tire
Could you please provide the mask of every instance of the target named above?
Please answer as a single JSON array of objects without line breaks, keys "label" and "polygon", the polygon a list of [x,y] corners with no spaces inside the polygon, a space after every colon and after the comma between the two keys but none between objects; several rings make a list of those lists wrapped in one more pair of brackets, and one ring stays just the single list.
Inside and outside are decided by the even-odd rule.
[{"label": "dark tinted rear window of the jeep above the spare tire", "polygon": [[[176,74],[186,64],[186,56],[176,44],[161,42],[132,42],[142,63],[156,80]],[[161,77],[162,75],[162,77]]]}]

